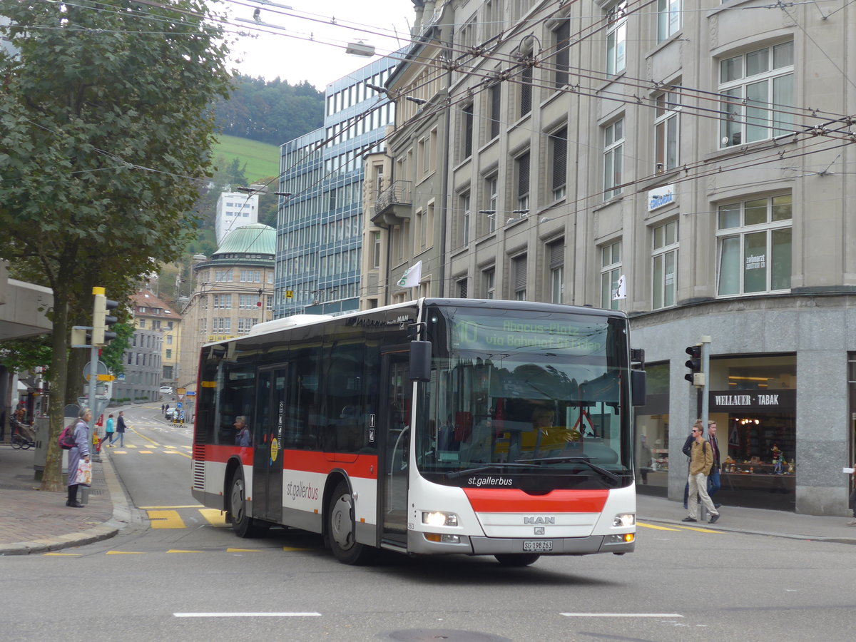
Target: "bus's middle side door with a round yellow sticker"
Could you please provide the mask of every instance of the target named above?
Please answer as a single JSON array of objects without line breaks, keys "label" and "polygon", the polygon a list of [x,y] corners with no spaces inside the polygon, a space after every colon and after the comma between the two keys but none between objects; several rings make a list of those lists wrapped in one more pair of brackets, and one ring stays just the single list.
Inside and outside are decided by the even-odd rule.
[{"label": "bus's middle side door with a round yellow sticker", "polygon": [[282,431],[286,368],[259,372],[253,421],[253,517],[282,523]]}]

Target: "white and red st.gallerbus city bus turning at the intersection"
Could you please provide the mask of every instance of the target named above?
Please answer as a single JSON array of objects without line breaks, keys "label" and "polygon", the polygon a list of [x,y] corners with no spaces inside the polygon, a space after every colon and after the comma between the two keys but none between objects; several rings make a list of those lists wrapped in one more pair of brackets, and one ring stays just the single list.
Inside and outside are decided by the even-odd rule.
[{"label": "white and red st.gallerbus city bus turning at the intersection", "polygon": [[645,373],[622,312],[421,299],[284,318],[205,345],[198,393],[193,496],[241,537],[318,532],[346,563],[634,548]]}]

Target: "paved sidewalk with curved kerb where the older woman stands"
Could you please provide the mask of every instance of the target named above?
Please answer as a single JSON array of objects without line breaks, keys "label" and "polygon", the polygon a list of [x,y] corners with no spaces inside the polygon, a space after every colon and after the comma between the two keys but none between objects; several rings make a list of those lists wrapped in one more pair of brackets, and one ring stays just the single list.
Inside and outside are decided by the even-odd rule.
[{"label": "paved sidewalk with curved kerb where the older woman stands", "polygon": [[[0,556],[27,555],[112,538],[130,523],[130,512],[112,464],[92,462],[85,508],[65,505],[67,492],[39,490],[33,449],[0,444]],[[78,499],[80,499],[78,490]]]}]

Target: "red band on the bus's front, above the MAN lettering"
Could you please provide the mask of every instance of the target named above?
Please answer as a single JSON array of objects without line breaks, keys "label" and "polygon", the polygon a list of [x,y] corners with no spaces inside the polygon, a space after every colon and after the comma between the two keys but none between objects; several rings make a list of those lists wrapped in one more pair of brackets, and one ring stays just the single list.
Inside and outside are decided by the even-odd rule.
[{"label": "red band on the bus's front, above the MAN lettering", "polygon": [[609,490],[552,490],[528,495],[516,488],[465,488],[477,513],[600,513]]}]

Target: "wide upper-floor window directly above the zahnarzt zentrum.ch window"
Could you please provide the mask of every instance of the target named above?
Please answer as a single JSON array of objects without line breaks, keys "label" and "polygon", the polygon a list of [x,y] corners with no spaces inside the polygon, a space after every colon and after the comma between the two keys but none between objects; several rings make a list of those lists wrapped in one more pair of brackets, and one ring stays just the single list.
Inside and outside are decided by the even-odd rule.
[{"label": "wide upper-floor window directly above the zahnarzt zentrum.ch window", "polygon": [[794,43],[764,47],[719,62],[720,147],[793,131]]}]

